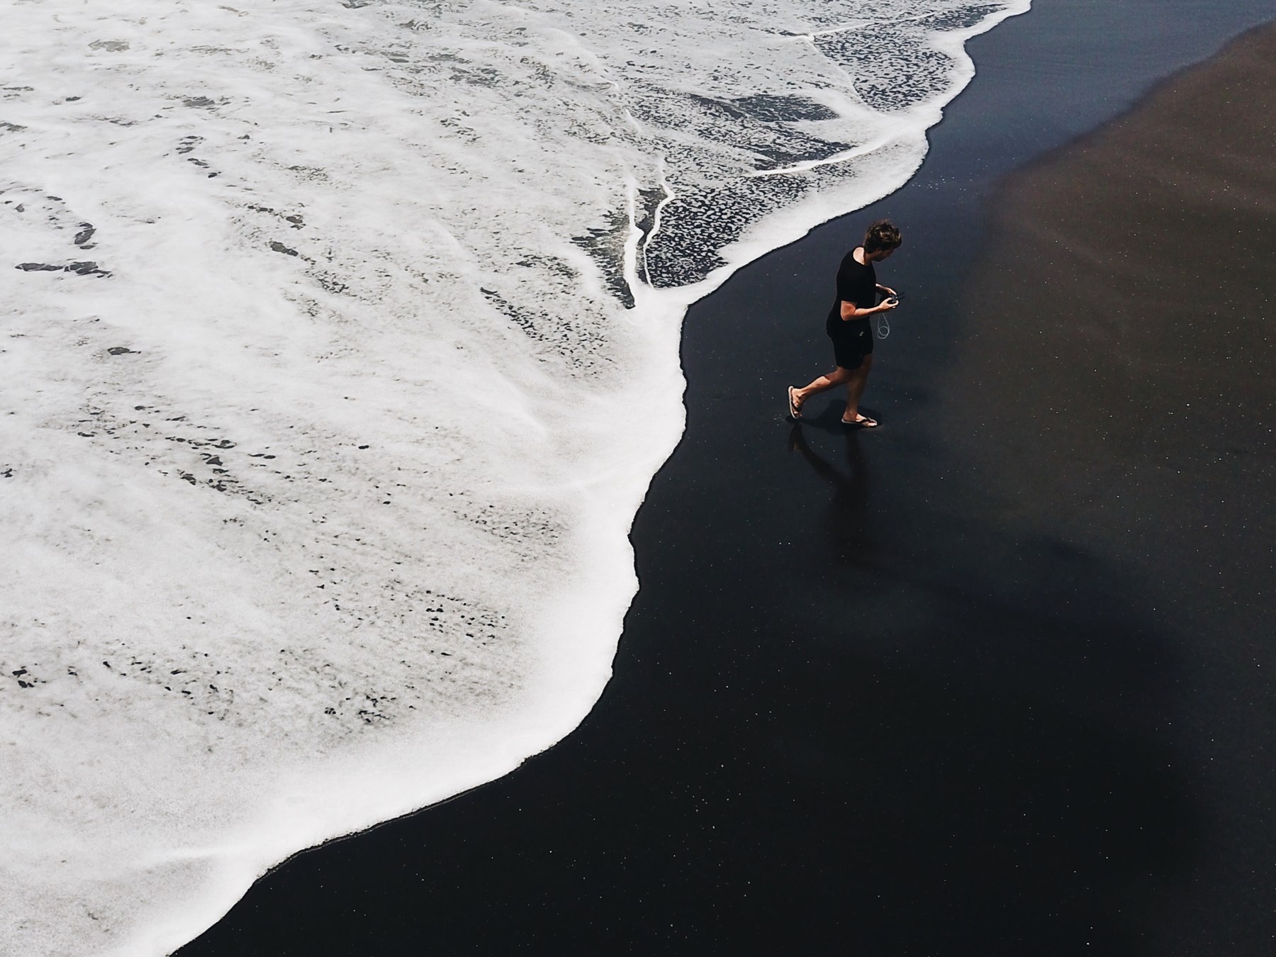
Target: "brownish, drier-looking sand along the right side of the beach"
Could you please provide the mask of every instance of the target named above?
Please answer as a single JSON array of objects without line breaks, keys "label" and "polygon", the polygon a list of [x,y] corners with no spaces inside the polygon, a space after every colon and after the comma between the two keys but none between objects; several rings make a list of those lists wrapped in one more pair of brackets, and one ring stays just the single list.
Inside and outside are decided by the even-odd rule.
[{"label": "brownish, drier-looking sand along the right side of the beach", "polygon": [[[1088,643],[1128,670],[1060,703],[1165,749],[1152,952],[1276,953],[1276,28],[994,208],[939,420],[1002,528],[1120,582],[1138,632]],[[1108,657],[1132,639],[1159,667]]]}]

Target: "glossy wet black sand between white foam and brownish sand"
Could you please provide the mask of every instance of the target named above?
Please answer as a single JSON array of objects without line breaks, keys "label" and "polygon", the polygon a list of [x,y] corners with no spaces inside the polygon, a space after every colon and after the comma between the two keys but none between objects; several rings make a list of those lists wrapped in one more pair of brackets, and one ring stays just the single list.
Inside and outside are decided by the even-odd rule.
[{"label": "glossy wet black sand between white foam and brownish sand", "polygon": [[[1137,569],[1008,517],[997,462],[962,464],[934,412],[995,180],[1272,14],[1040,0],[975,41],[907,188],[692,309],[688,430],[593,713],[297,856],[181,953],[1268,953],[1272,874],[1210,837],[1193,662]],[[783,385],[826,370],[836,264],[884,214],[906,245],[879,274],[909,295],[864,401],[883,426],[847,434],[829,393],[792,427]],[[1271,762],[1234,773],[1261,808]],[[1229,819],[1276,846],[1271,815]],[[1230,910],[1194,906],[1219,874]]]}]

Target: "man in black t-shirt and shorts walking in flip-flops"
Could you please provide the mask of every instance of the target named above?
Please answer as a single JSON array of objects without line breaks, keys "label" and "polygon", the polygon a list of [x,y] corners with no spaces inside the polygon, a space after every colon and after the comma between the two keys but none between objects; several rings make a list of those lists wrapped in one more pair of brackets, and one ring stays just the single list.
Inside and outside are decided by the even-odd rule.
[{"label": "man in black t-shirt and shorts walking in flip-flops", "polygon": [[[863,429],[877,427],[877,420],[860,413],[860,396],[873,367],[873,322],[877,313],[888,313],[900,305],[897,293],[877,281],[874,263],[889,259],[900,248],[900,230],[888,219],[878,219],[864,234],[864,245],[856,246],[842,259],[837,269],[837,300],[828,311],[824,332],[833,341],[833,360],[837,369],[813,379],[798,389],[789,387],[789,416],[801,420],[801,407],[806,399],[820,392],[846,385],[846,411],[842,425]],[[878,293],[886,299],[878,302]]]}]

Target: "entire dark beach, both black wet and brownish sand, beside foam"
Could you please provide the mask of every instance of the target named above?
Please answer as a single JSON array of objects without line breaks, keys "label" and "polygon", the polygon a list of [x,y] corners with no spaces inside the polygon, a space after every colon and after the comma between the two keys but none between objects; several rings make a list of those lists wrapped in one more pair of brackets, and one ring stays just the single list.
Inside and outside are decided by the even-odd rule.
[{"label": "entire dark beach, both black wet and brownish sand, beside foam", "polygon": [[[581,729],[181,953],[1271,953],[1273,34],[1000,179],[1265,11],[1206,9],[1042,0],[972,43],[905,190],[688,316]],[[880,214],[883,426],[791,427]]]}]

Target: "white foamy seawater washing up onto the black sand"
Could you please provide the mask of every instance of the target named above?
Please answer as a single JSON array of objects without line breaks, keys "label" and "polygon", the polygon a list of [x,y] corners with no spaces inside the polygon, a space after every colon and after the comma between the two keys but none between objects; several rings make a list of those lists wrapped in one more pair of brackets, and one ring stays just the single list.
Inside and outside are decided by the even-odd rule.
[{"label": "white foamy seawater washing up onto the black sand", "polygon": [[1026,6],[10,4],[0,952],[163,953],[567,734],[686,305]]}]

